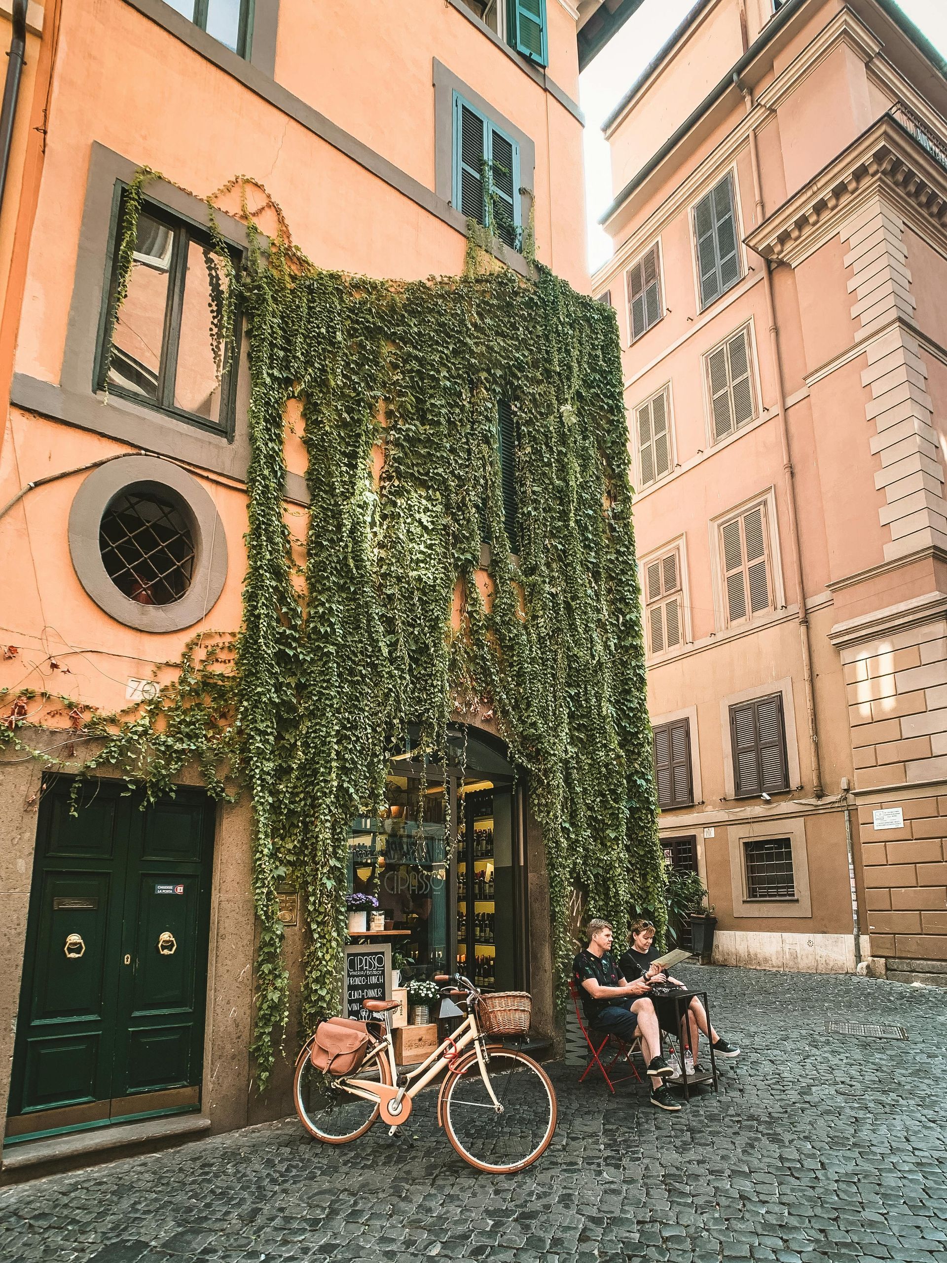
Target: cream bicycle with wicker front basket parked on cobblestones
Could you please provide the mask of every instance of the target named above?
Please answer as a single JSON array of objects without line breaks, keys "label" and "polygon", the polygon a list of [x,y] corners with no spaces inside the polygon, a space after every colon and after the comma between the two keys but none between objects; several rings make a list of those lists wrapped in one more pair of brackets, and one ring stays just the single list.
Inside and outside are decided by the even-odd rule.
[{"label": "cream bicycle with wicker front basket parked on cobblestones", "polygon": [[[434,981],[450,980],[442,974]],[[441,995],[466,1008],[465,1021],[427,1061],[400,1074],[391,1038],[396,1000],[365,1002],[364,1008],[376,1021],[366,1023],[367,1051],[348,1074],[323,1074],[313,1066],[312,1036],[299,1053],[293,1080],[299,1120],[309,1135],[328,1144],[357,1139],[379,1116],[393,1134],[410,1118],[418,1092],[446,1070],[437,1122],[453,1148],[480,1171],[521,1171],[535,1162],[553,1137],[556,1091],[532,1057],[487,1041],[491,1036],[525,1034],[530,998],[521,991],[481,995],[460,974],[455,974],[451,986],[442,986]],[[376,1027],[378,1033],[370,1027]]]}]

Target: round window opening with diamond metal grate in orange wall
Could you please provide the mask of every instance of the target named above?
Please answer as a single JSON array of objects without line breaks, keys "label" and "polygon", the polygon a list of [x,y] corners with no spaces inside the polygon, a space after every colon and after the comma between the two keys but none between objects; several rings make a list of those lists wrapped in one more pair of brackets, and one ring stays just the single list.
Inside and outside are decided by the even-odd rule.
[{"label": "round window opening with diamond metal grate in orange wall", "polygon": [[191,586],[194,541],[182,510],[153,491],[125,490],[102,514],[102,565],[139,605],[170,605]]}]

